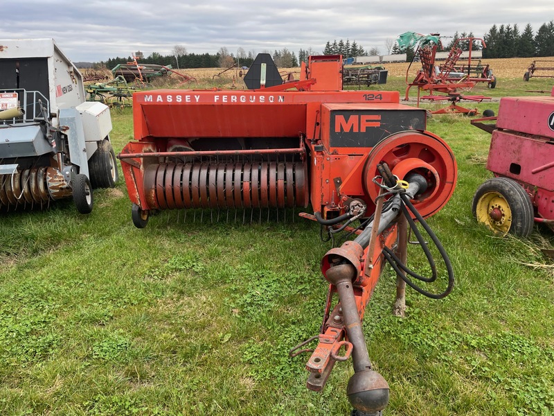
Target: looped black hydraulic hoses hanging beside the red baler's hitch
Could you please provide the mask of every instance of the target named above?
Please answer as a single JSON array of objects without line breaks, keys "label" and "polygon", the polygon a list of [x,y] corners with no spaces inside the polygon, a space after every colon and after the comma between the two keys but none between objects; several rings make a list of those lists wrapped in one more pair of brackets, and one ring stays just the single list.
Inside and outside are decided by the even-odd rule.
[{"label": "looped black hydraulic hoses hanging beside the red baler's hitch", "polygon": [[[400,261],[400,259],[398,259],[398,257],[394,254],[394,252],[389,248],[384,248],[383,255],[384,255],[385,259],[389,263],[391,263],[391,266],[393,267],[393,269],[395,270],[397,275],[400,276],[400,278],[402,280],[404,280],[408,286],[413,288],[413,290],[415,290],[418,293],[421,293],[424,296],[431,297],[431,299],[443,299],[443,297],[446,297],[447,295],[449,295],[449,293],[452,292],[452,288],[454,288],[454,269],[452,268],[452,262],[450,261],[445,248],[440,243],[440,241],[439,241],[438,237],[436,236],[436,234],[433,232],[431,227],[429,227],[429,225],[427,224],[425,219],[423,219],[423,217],[418,212],[418,210],[415,209],[415,207],[410,202],[409,196],[407,196],[405,193],[401,193],[400,198],[402,198],[402,202],[404,202],[404,204],[402,205],[402,211],[404,212],[404,215],[406,216],[406,219],[410,223],[410,226],[413,229],[414,234],[418,237],[418,241],[419,241],[420,245],[422,246],[422,249],[424,250],[425,255],[427,256],[427,259],[429,260],[429,265],[431,266],[431,270],[433,270],[433,275],[431,277],[422,277],[422,276],[418,275],[417,273],[413,272],[412,270],[407,268],[407,266],[404,265]],[[445,262],[445,266],[447,268],[447,273],[448,273],[448,286],[447,286],[446,290],[443,293],[431,293],[431,292],[425,291],[425,289],[423,289],[420,286],[413,283],[413,281],[408,279],[408,277],[406,277],[404,275],[404,273],[402,273],[402,270],[404,270],[404,272],[406,272],[407,274],[409,274],[412,277],[414,277],[415,279],[418,279],[418,280],[421,280],[421,281],[431,282],[431,281],[436,280],[436,265],[435,265],[434,259],[432,258],[432,255],[431,255],[431,252],[429,251],[429,248],[427,248],[427,245],[425,244],[425,241],[424,241],[421,233],[418,231],[418,228],[415,226],[415,221],[409,215],[409,212],[406,209],[406,207],[408,207],[409,210],[415,216],[415,218],[418,219],[418,221],[420,222],[422,227],[425,229],[425,231],[427,232],[429,237],[431,237],[431,240],[434,242],[438,252],[440,253],[440,256],[443,257],[443,260]],[[400,270],[400,269],[402,269],[402,270]]]}]

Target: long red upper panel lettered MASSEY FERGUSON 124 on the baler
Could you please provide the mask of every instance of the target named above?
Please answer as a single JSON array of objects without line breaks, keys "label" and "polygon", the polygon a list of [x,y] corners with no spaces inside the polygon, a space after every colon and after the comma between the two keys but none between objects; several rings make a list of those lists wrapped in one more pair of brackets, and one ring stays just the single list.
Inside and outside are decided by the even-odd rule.
[{"label": "long red upper panel lettered MASSEY FERGUSON 124 on the baler", "polygon": [[[133,94],[134,138],[298,137],[314,134],[321,103],[367,103],[364,91],[254,92],[161,89]],[[379,103],[398,103],[398,92],[379,93]],[[316,103],[317,105],[308,105]],[[307,125],[309,124],[309,125]]]}]

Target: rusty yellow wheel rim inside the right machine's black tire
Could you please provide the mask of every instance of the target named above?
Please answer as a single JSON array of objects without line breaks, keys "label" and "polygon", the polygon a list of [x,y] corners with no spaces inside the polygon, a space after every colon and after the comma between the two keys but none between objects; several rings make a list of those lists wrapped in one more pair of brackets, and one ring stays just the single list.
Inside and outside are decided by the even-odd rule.
[{"label": "rusty yellow wheel rim inside the right machine's black tire", "polygon": [[512,209],[508,201],[498,192],[485,193],[476,206],[479,223],[485,224],[497,234],[505,236],[512,225]]}]

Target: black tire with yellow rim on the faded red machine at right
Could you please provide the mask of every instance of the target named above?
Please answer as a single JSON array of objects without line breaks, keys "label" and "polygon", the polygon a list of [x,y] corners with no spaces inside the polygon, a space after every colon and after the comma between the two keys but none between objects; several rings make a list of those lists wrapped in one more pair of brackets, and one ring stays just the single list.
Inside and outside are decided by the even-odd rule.
[{"label": "black tire with yellow rim on the faded red machine at right", "polygon": [[[498,221],[487,214],[495,206],[502,212]],[[493,177],[481,184],[473,197],[472,213],[497,234],[526,237],[533,231],[533,204],[525,189],[508,177]]]}]

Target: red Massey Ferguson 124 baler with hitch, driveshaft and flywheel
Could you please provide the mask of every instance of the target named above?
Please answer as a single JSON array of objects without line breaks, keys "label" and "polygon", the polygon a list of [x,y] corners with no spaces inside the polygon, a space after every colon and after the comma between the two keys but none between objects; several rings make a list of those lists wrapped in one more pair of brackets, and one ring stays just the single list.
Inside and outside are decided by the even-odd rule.
[{"label": "red Massey Ferguson 124 baler with hitch, driveshaft and flywheel", "polygon": [[[401,105],[398,92],[341,90],[340,56],[310,57],[292,83],[274,76],[270,61],[257,59],[247,74],[257,89],[134,94],[135,140],[118,155],[132,220],[145,227],[163,209],[311,204],[314,214],[302,216],[330,234],[352,232],[355,239],[321,261],[330,282],[321,333],[291,355],[312,352],[307,387],[316,391],[334,363],[351,355],[350,402],[360,415],[379,412],[388,403],[388,385],[372,370],[361,320],[384,259],[400,276],[401,313],[404,281],[429,297],[452,290],[452,266],[424,218],[452,196],[456,161],[445,141],[425,130],[425,110]],[[408,223],[423,241],[412,218],[424,225],[446,263],[442,293],[413,282],[437,279],[426,243],[433,275],[405,266]],[[312,340],[319,341],[314,349],[306,347]]]}]

